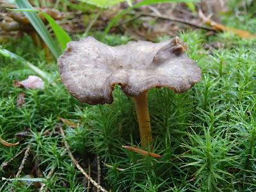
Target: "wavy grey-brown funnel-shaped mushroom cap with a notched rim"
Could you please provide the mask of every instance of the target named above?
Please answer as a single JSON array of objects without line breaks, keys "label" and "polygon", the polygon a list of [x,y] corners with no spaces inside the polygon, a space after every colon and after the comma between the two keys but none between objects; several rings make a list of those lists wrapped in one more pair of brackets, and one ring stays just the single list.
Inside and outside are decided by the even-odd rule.
[{"label": "wavy grey-brown funnel-shaped mushroom cap with a notched rim", "polygon": [[184,53],[187,47],[178,37],[116,47],[87,37],[67,44],[58,68],[68,92],[88,104],[111,104],[115,84],[131,97],[163,86],[182,93],[201,79],[200,68]]}]

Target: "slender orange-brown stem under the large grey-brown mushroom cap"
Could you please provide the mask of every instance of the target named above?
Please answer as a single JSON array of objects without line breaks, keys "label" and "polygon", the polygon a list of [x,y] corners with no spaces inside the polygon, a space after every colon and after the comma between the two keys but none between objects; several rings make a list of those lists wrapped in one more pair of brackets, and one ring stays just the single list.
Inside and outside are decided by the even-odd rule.
[{"label": "slender orange-brown stem under the large grey-brown mushroom cap", "polygon": [[147,149],[148,145],[152,141],[151,125],[148,113],[148,92],[142,92],[140,95],[132,97],[132,99],[135,104],[140,127],[141,147],[143,149]]}]

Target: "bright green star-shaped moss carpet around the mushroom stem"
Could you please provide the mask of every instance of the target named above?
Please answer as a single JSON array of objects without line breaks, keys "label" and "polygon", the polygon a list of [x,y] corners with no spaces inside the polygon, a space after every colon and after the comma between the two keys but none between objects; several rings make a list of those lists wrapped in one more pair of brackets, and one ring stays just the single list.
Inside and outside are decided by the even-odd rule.
[{"label": "bright green star-shaped moss carpet around the mushroom stem", "polygon": [[[228,19],[224,18],[224,22],[228,24]],[[255,22],[244,22],[243,28],[250,29]],[[131,38],[108,35],[105,43],[125,44]],[[56,62],[47,61],[44,51],[36,48],[29,36],[4,44],[4,49],[51,74],[56,84],[45,82],[45,90],[13,86],[13,80],[21,81],[35,72],[19,61],[1,56],[0,138],[10,143],[20,141],[15,147],[1,145],[1,162],[10,160],[30,143],[21,178],[38,177],[35,164],[39,162],[45,189],[86,191],[87,181],[72,164],[63,145],[58,129],[61,126],[74,156],[86,172],[91,167],[96,181],[99,157],[100,184],[108,190],[255,191],[255,40],[245,40],[230,32],[205,36],[203,30],[182,32],[180,38],[189,43],[188,56],[202,68],[202,80],[182,94],[168,88],[149,91],[152,152],[161,154],[160,158],[122,148],[127,143],[138,145],[140,136],[132,99],[120,87],[116,86],[111,105],[83,104],[57,81],[60,76]],[[221,46],[205,49],[205,45],[216,42]],[[21,92],[25,93],[26,102],[19,107],[17,97]],[[63,124],[58,117],[77,126]],[[25,131],[22,138],[15,136]],[[17,173],[23,156],[3,168],[1,177]],[[47,178],[51,170],[52,175]],[[2,180],[0,191],[39,188],[38,182]]]}]

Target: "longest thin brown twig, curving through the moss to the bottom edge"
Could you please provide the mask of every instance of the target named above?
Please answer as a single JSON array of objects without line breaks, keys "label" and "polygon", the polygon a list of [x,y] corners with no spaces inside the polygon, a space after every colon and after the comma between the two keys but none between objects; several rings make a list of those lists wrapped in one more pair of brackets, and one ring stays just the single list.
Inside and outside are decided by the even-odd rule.
[{"label": "longest thin brown twig, curving through the moss to the bottom edge", "polygon": [[62,129],[62,127],[60,127],[60,132],[63,135],[63,141],[64,141],[64,145],[67,148],[68,151],[68,156],[70,157],[70,159],[72,160],[73,164],[77,167],[77,169],[83,173],[84,177],[86,177],[88,180],[90,180],[90,182],[92,182],[93,186],[95,186],[97,189],[100,189],[100,191],[102,192],[108,192],[106,191],[106,189],[102,188],[102,186],[100,186],[97,182],[95,182],[95,180],[92,179],[92,177],[90,177],[84,170],[83,168],[79,165],[78,161],[74,158],[72,152],[70,151],[70,148],[68,146],[67,141],[65,140],[65,133]]}]

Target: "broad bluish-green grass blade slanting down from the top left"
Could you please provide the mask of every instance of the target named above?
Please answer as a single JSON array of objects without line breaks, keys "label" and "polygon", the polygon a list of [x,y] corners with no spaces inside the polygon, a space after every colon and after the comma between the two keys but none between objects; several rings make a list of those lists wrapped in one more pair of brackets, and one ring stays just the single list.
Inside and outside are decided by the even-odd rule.
[{"label": "broad bluish-green grass blade slanting down from the top left", "polygon": [[[29,8],[33,10],[33,6],[28,3],[27,0],[19,0],[15,1],[15,6],[19,9],[22,8]],[[60,56],[60,52],[58,50],[58,47],[55,45],[53,42],[51,35],[45,28],[44,22],[36,15],[36,13],[33,12],[23,12],[26,17],[28,17],[29,21],[31,22],[33,28],[37,31],[38,35],[41,36],[41,38],[44,40],[45,44],[49,47],[51,50],[52,54],[54,55],[54,58],[58,59]]]}]

